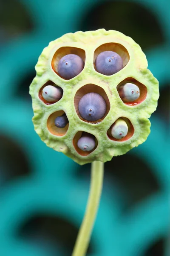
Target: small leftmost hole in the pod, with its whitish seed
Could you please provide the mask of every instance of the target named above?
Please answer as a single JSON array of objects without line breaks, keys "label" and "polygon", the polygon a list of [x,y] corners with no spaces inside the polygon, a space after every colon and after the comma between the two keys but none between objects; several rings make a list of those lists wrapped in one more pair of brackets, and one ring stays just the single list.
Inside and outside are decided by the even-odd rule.
[{"label": "small leftmost hole in the pod, with its whitish seed", "polygon": [[[49,86],[53,86],[53,87],[48,88],[47,86],[48,87]],[[43,90],[45,87],[48,88],[46,91]],[[55,88],[57,89],[57,91],[55,91]],[[46,96],[44,96],[43,94],[46,94]],[[59,87],[58,85],[54,84],[53,81],[48,81],[47,83],[45,83],[41,87],[41,89],[39,91],[39,98],[46,105],[51,105],[51,104],[54,104],[54,103],[58,102],[62,98],[62,94],[63,94],[63,90],[62,90],[61,87]],[[53,101],[53,98],[54,98],[54,101]]]}]

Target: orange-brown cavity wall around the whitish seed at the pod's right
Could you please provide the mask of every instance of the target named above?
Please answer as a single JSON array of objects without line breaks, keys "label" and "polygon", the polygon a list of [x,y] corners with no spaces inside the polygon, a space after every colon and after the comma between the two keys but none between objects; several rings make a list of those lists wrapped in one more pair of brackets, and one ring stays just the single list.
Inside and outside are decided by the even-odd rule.
[{"label": "orange-brown cavity wall around the whitish seed at the pod's right", "polygon": [[[119,87],[123,84],[126,84],[126,83],[132,83],[132,84],[135,84],[139,87],[139,90],[140,90],[140,96],[138,99],[134,100],[133,102],[125,102],[120,96],[120,99],[122,99],[122,102],[125,103],[125,105],[129,105],[129,106],[134,106],[134,105],[138,105],[140,103],[142,103],[145,99],[146,99],[146,96],[147,96],[147,87],[140,83],[139,81],[137,81],[136,79],[132,78],[132,77],[128,77],[126,79],[124,79],[122,82],[120,82],[120,84],[117,85],[117,90],[119,89]],[[119,91],[118,91],[119,93]]]}]

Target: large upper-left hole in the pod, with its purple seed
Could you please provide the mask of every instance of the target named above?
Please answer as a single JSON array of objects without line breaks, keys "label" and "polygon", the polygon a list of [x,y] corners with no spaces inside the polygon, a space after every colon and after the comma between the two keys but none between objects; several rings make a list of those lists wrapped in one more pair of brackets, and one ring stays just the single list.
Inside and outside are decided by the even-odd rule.
[{"label": "large upper-left hole in the pod, with its purple seed", "polygon": [[[61,64],[60,60],[64,56],[70,55],[70,54],[72,55],[72,58],[73,58],[73,55],[77,55],[77,57],[74,56],[75,57],[74,59],[71,59],[69,56],[67,56],[67,58],[69,58],[70,63],[74,62],[74,65],[70,66],[69,62],[67,61],[67,58],[66,58],[66,62],[65,62],[65,59],[63,59],[62,60],[63,63]],[[51,62],[54,72],[58,76],[60,76],[62,79],[65,79],[65,80],[70,80],[73,77],[77,76],[79,73],[81,73],[81,71],[84,68],[84,64],[85,64],[85,51],[83,49],[76,48],[76,47],[59,48],[55,52]],[[68,66],[67,69],[65,69],[64,66]]]}]

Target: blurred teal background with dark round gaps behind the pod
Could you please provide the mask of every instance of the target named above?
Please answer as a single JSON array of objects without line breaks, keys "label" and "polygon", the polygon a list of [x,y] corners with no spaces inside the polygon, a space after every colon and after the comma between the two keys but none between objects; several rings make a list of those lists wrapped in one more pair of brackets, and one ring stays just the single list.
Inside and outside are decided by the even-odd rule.
[{"label": "blurred teal background with dark round gaps behind the pod", "polygon": [[28,90],[49,41],[99,28],[140,44],[160,98],[147,141],[105,164],[88,256],[170,255],[170,2],[0,0],[0,256],[71,255],[90,165],[40,140]]}]

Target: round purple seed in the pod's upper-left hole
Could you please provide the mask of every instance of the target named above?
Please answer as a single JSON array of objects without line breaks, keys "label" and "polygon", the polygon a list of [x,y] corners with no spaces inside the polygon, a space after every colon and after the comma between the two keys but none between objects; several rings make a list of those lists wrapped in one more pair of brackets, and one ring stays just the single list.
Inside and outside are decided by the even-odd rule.
[{"label": "round purple seed in the pod's upper-left hole", "polygon": [[84,61],[78,55],[68,54],[59,60],[58,73],[64,79],[71,79],[83,70],[84,65]]}]

